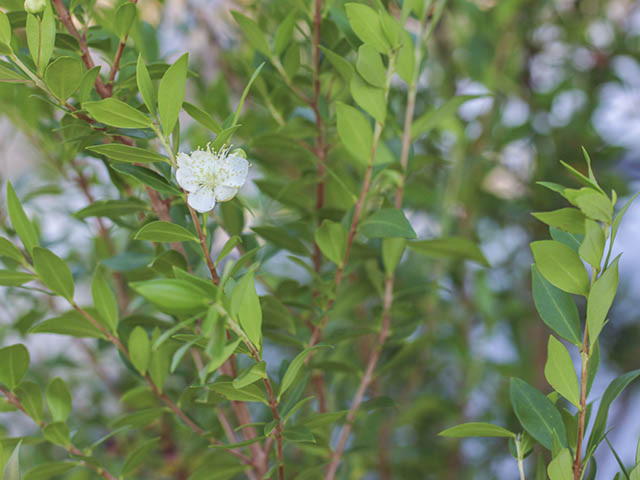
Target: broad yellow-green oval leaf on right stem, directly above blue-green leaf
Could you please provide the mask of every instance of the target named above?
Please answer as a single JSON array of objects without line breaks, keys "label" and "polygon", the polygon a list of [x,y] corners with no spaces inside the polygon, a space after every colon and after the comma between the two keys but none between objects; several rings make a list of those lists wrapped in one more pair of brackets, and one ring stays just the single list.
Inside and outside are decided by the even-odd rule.
[{"label": "broad yellow-green oval leaf on right stem, directly above blue-green leaf", "polygon": [[568,293],[589,293],[589,275],[582,260],[571,248],[555,240],[531,244],[533,258],[540,273],[553,285]]}]

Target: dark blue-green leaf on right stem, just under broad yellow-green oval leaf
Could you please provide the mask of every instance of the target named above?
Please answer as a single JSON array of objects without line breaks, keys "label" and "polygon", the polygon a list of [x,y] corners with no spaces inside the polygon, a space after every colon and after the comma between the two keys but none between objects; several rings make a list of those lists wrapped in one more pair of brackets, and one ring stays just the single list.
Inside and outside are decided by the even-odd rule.
[{"label": "dark blue-green leaf on right stem, just under broad yellow-green oval leaf", "polygon": [[536,265],[531,265],[533,301],[542,321],[574,345],[581,346],[580,317],[573,298],[545,279]]}]

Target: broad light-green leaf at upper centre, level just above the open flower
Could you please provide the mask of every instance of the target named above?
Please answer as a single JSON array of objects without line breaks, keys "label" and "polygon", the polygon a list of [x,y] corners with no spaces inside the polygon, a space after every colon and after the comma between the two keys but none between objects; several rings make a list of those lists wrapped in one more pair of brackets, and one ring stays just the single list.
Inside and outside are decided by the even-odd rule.
[{"label": "broad light-green leaf at upper centre, level just above the open flower", "polygon": [[371,161],[373,132],[367,118],[357,109],[338,102],[336,104],[338,136],[340,141],[360,163]]}]

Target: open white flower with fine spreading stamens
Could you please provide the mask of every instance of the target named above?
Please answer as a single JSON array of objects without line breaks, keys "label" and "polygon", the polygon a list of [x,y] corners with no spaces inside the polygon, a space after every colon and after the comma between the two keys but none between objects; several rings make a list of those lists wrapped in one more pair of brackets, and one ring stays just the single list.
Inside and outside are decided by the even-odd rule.
[{"label": "open white flower with fine spreading stamens", "polygon": [[207,145],[206,150],[198,149],[191,155],[178,154],[176,179],[188,192],[189,205],[200,213],[212,210],[216,201],[226,202],[235,197],[248,173],[249,162],[240,149],[212,152]]}]

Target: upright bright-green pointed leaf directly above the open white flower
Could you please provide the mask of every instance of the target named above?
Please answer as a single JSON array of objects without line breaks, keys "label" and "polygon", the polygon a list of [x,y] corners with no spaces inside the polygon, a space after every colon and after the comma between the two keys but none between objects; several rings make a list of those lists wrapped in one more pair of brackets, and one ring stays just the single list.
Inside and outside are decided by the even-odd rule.
[{"label": "upright bright-green pointed leaf directly above the open white flower", "polygon": [[184,102],[189,54],[182,55],[165,72],[158,87],[158,113],[166,136],[173,131]]}]

